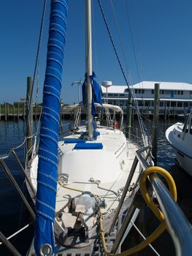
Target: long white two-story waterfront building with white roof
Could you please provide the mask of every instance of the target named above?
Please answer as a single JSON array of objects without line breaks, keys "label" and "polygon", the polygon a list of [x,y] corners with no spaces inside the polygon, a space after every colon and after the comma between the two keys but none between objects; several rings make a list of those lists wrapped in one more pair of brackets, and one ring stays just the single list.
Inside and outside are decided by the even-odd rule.
[{"label": "long white two-story waterfront building with white roof", "polygon": [[[152,81],[143,81],[130,88],[134,89],[139,108],[153,110],[154,86]],[[103,99],[110,104],[120,105],[124,110],[128,103],[127,86],[110,86],[108,89],[101,86]],[[190,83],[160,83],[160,111],[166,109],[177,110],[177,112],[187,111],[192,106],[192,84]]]}]

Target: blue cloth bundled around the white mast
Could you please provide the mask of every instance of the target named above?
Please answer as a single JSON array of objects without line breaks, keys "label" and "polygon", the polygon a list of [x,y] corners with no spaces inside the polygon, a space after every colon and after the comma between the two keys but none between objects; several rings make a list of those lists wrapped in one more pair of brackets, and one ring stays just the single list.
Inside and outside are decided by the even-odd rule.
[{"label": "blue cloth bundled around the white mast", "polygon": [[[99,86],[99,83],[96,82],[96,80],[94,80],[94,78],[96,78],[95,73],[93,72],[93,75],[91,75],[90,77],[91,80],[91,86],[92,86],[92,108],[91,108],[91,113],[93,116],[96,115],[96,107],[94,105],[94,103],[99,103],[102,105],[102,99],[101,99],[101,86]],[[86,89],[85,89],[85,81],[87,80],[87,74],[85,74],[85,80],[84,83],[82,84],[82,101],[84,106],[87,105],[86,102]]]}]

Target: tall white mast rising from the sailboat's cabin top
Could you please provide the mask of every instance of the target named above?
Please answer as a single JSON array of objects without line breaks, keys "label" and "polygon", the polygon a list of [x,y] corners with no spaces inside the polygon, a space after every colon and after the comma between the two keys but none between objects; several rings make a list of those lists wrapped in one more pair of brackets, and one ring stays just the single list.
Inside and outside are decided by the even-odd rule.
[{"label": "tall white mast rising from the sailboat's cabin top", "polygon": [[92,41],[91,41],[91,0],[85,0],[85,14],[86,14],[86,72],[87,72],[87,108],[88,108],[88,138],[93,138],[93,116],[91,113],[92,105],[92,86],[90,75],[93,75],[92,71]]}]

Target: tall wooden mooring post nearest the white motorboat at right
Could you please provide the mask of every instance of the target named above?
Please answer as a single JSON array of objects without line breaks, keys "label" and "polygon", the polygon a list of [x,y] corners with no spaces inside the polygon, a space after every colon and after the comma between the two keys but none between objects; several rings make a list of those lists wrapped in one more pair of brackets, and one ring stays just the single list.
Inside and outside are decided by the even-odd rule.
[{"label": "tall wooden mooring post nearest the white motorboat at right", "polygon": [[154,114],[153,114],[153,127],[152,127],[152,151],[151,151],[154,165],[157,165],[159,87],[160,87],[159,83],[155,83]]}]

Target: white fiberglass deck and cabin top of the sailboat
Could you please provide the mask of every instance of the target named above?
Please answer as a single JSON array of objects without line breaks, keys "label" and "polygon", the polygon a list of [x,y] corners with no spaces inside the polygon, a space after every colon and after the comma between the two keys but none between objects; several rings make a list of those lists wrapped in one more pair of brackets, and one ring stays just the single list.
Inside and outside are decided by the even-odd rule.
[{"label": "white fiberglass deck and cabin top of the sailboat", "polygon": [[[79,138],[82,129],[77,135],[66,138]],[[122,188],[126,184],[128,173],[134,161],[135,151],[138,149],[133,143],[126,140],[123,132],[118,129],[106,127],[98,128],[99,137],[95,141],[86,143],[102,143],[102,149],[74,149],[76,143],[58,143],[60,149],[58,163],[58,177],[63,174],[67,178],[65,187],[58,183],[56,211],[64,207],[69,196],[75,197],[81,193],[72,189],[91,192],[99,195],[107,203],[109,208],[117,207]],[[37,187],[37,162],[36,157],[31,165],[31,181]],[[133,181],[139,173],[137,167]],[[67,189],[69,187],[71,189]]]}]

